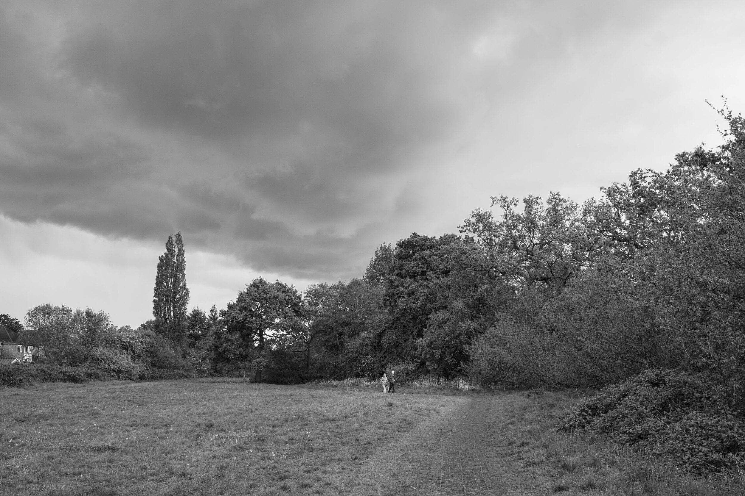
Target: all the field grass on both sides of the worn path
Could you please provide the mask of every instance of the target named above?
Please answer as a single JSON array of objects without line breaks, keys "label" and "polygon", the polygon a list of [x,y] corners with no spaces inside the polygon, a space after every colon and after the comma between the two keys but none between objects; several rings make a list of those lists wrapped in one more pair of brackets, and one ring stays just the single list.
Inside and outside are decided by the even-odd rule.
[{"label": "all the field grass on both sides of the worn path", "polygon": [[[425,386],[395,395],[353,381],[0,388],[0,494],[396,493],[376,473],[385,470],[389,454],[408,456],[396,454],[393,439],[472,394]],[[745,494],[742,472],[703,480],[616,445],[557,433],[554,419],[577,402],[571,391],[489,396],[507,405],[513,456],[542,481],[546,494]]]}]

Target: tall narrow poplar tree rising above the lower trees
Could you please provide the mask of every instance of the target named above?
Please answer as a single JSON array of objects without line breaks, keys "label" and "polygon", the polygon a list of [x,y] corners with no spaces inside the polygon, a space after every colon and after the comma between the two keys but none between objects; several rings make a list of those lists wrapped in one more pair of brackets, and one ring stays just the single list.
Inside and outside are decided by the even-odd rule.
[{"label": "tall narrow poplar tree rising above the lower trees", "polygon": [[188,288],[186,287],[186,256],[181,233],[171,234],[165,251],[158,258],[158,271],[153,291],[155,330],[166,338],[183,344],[187,333]]}]

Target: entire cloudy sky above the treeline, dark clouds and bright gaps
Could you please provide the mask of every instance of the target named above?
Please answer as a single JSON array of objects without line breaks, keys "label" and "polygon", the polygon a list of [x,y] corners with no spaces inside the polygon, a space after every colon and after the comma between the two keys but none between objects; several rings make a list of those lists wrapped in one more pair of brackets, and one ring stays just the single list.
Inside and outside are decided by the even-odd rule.
[{"label": "entire cloudy sky above the treeline, dark clouds and bright gaps", "polygon": [[741,1],[0,0],[0,313],[359,277],[489,196],[581,202],[720,144]]}]

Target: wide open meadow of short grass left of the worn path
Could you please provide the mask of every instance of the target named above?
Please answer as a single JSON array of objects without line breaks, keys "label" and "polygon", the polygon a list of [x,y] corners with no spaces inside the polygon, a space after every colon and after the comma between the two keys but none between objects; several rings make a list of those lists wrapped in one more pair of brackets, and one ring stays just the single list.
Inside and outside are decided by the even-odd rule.
[{"label": "wide open meadow of short grass left of the worn path", "polygon": [[7,495],[350,495],[448,397],[181,380],[2,388]]}]

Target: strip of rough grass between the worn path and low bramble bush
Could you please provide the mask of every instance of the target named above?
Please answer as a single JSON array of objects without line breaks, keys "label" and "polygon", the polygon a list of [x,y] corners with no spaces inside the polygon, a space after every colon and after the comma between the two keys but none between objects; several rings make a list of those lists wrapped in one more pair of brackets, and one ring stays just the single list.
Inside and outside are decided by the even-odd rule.
[{"label": "strip of rough grass between the worn path and low bramble bush", "polygon": [[[529,397],[526,397],[529,396]],[[580,399],[575,391],[504,395],[510,445],[525,466],[558,495],[723,496],[745,494],[745,471],[703,478],[599,439],[555,431],[559,413]]]}]

